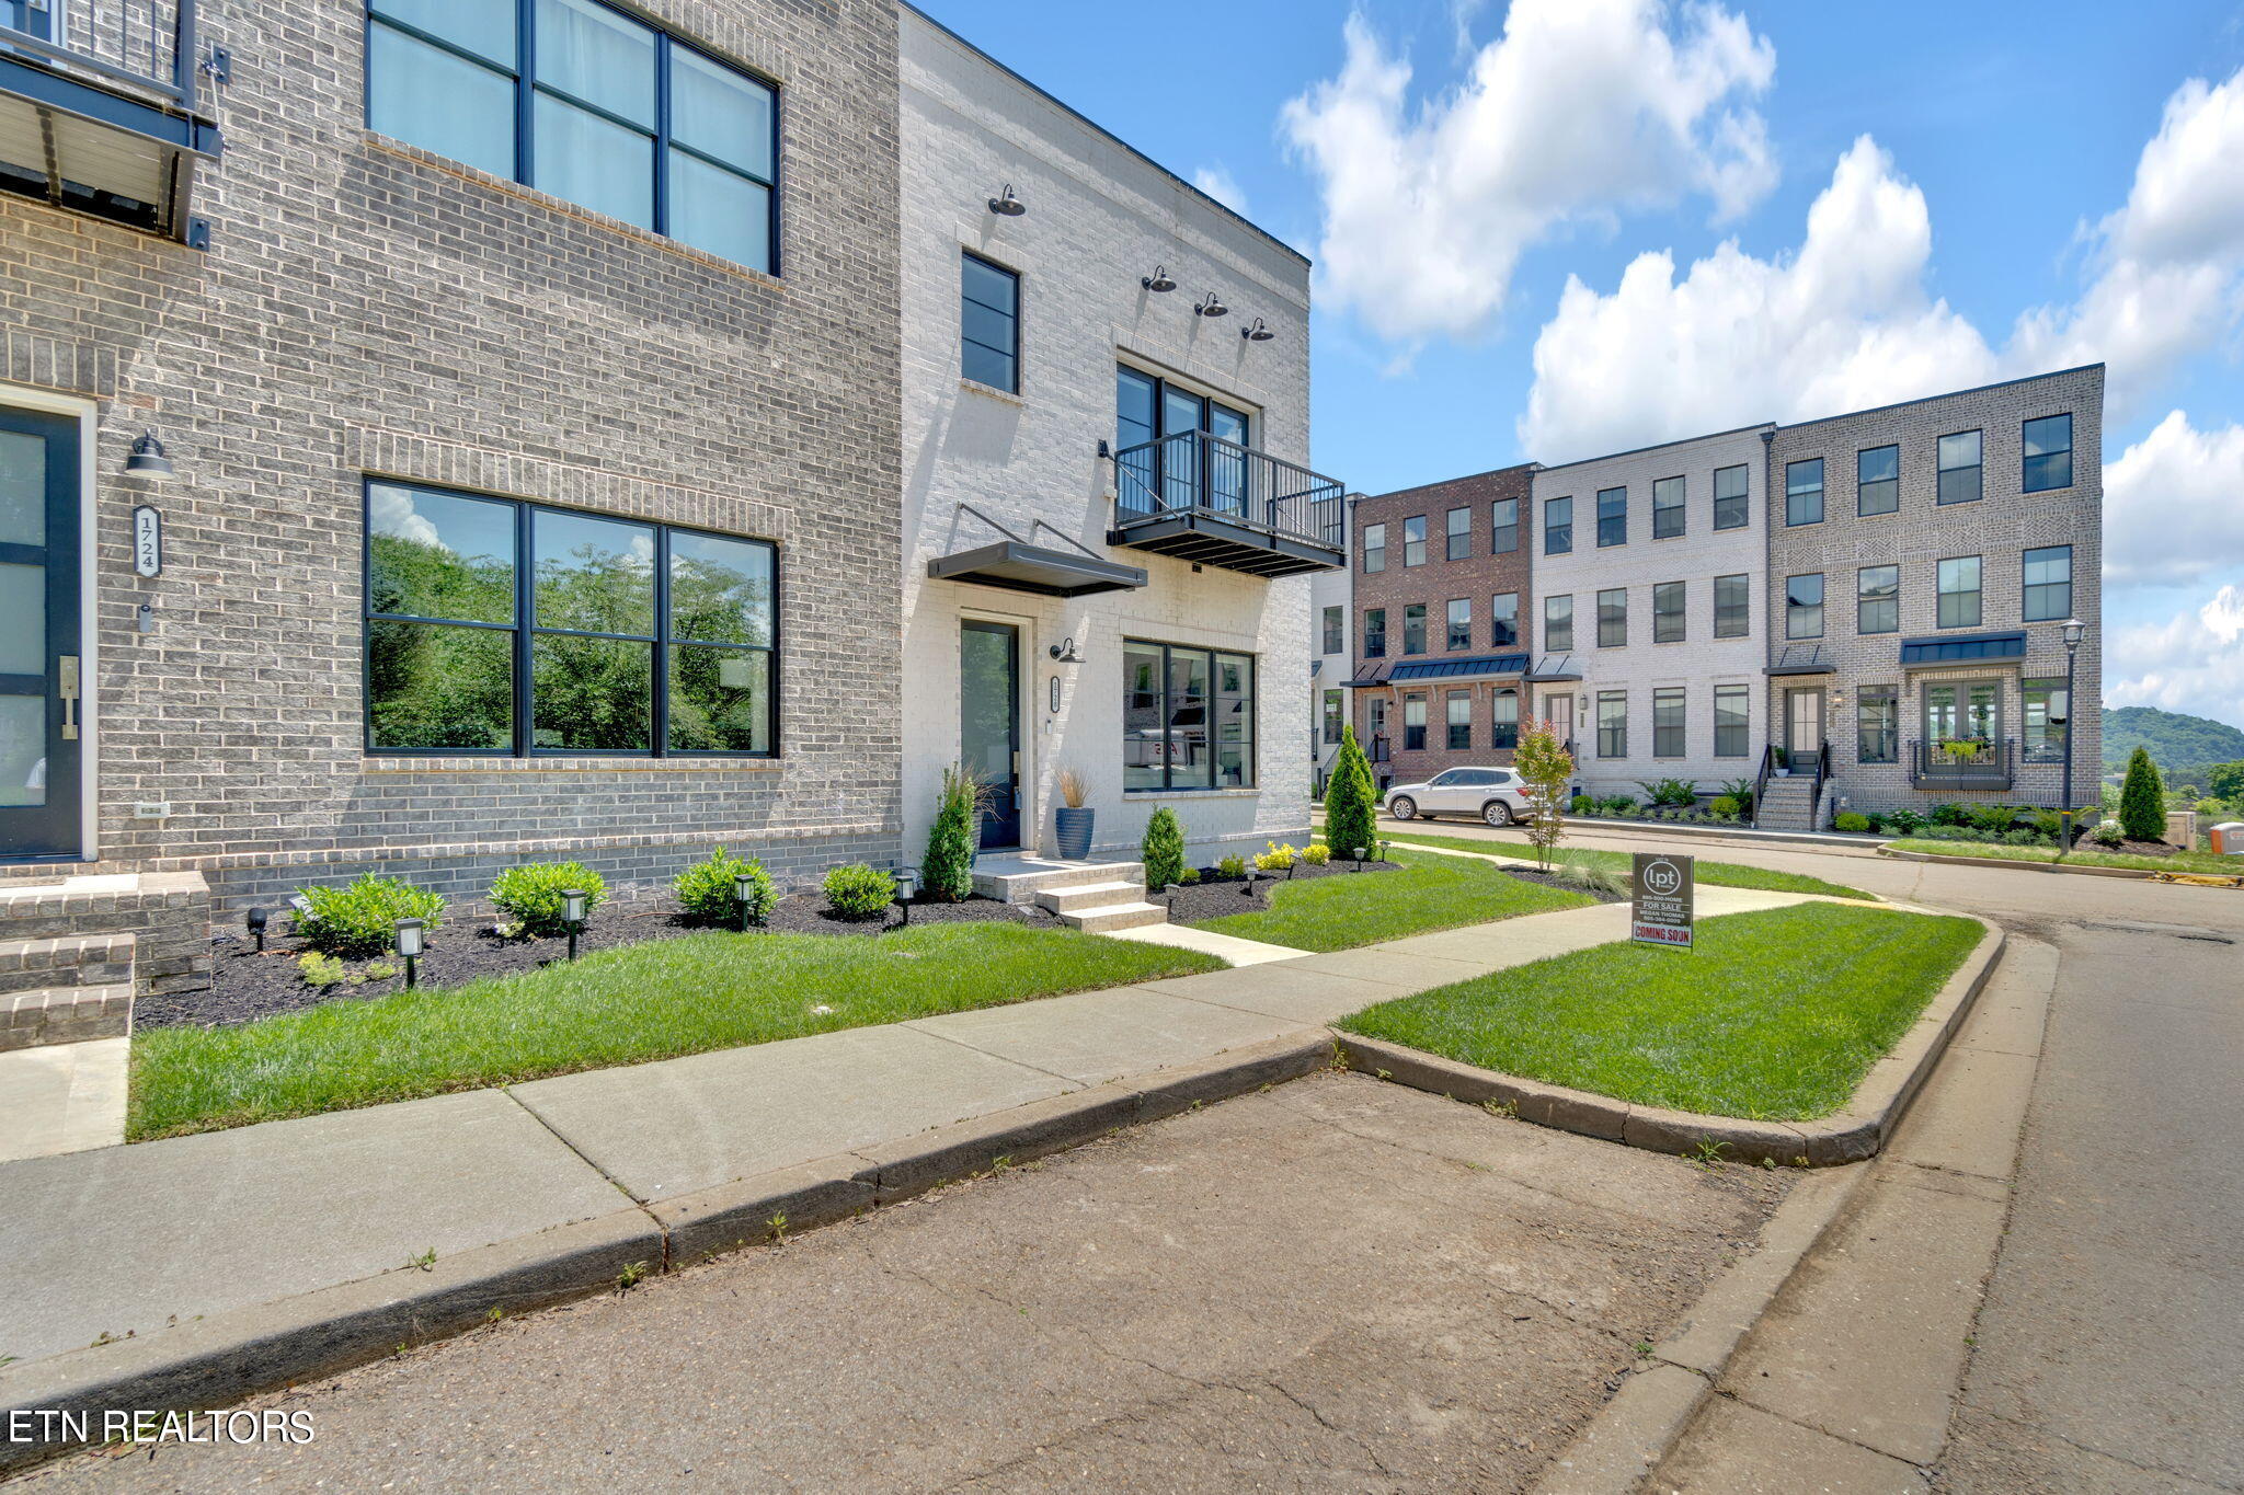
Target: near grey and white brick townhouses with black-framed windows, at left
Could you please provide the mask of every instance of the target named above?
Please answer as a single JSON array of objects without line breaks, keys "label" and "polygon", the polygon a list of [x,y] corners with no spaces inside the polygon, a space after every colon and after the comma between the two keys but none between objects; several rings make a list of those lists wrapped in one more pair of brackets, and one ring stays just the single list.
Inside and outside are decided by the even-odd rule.
[{"label": "near grey and white brick townhouses with black-framed windows, at left", "polygon": [[[0,4],[0,888],[1310,818],[1308,262],[893,0]],[[119,912],[123,910],[123,912]]]}]

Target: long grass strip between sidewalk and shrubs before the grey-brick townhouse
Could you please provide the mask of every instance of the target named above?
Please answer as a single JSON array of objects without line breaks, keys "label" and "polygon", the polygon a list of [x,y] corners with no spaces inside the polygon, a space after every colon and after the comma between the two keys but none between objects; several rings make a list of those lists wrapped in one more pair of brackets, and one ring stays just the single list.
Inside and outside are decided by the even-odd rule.
[{"label": "long grass strip between sidewalk and shrubs before the grey-brick townhouse", "polygon": [[229,1029],[148,1029],[132,1038],[126,1130],[211,1132],[1221,968],[1019,923],[651,939]]}]

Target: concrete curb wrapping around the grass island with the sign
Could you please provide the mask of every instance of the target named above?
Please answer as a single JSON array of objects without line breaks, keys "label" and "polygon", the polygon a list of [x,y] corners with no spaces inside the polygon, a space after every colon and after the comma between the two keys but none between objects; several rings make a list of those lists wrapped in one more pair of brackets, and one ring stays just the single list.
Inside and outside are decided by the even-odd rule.
[{"label": "concrete curb wrapping around the grass island with the sign", "polygon": [[1847,1107],[1822,1121],[1737,1121],[1656,1105],[1629,1105],[1587,1089],[1521,1080],[1355,1033],[1337,1036],[1340,1058],[1349,1069],[1369,1071],[1396,1085],[1427,1089],[1470,1105],[1497,1105],[1517,1114],[1519,1121],[1602,1136],[1649,1152],[1681,1157],[1719,1143],[1721,1159],[1728,1163],[1759,1163],[1764,1159],[1773,1163],[1806,1159],[1813,1168],[1856,1163],[1885,1148],[1894,1127],[1901,1125],[1901,1116],[1910,1109],[1910,1101],[1916,1098],[1932,1067],[1946,1053],[1948,1040],[1964,1024],[1986,979],[2002,962],[2006,944],[2002,926],[1977,914],[1948,917],[1970,919],[1986,932],[1957,973],[1948,977],[1948,984],[1925,1004],[1925,1013],[1901,1036],[1901,1042],[1869,1067]]}]

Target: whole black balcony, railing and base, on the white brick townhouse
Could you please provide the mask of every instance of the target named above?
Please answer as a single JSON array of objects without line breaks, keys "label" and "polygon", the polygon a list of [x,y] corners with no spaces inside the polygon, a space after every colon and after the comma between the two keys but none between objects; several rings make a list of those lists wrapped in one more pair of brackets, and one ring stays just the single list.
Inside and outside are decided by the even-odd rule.
[{"label": "whole black balcony, railing and base, on the white brick townhouse", "polygon": [[1205,430],[1109,455],[1115,464],[1109,545],[1248,576],[1346,565],[1346,495],[1335,477]]}]

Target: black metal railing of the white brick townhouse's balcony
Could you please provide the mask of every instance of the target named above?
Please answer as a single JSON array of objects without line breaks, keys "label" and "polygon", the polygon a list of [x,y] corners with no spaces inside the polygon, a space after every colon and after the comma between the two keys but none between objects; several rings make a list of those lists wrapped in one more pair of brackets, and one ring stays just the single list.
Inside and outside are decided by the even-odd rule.
[{"label": "black metal railing of the white brick townhouse's balcony", "polygon": [[1333,549],[1346,542],[1346,489],[1337,477],[1207,430],[1124,446],[1113,462],[1118,529],[1176,513],[1212,513]]}]

